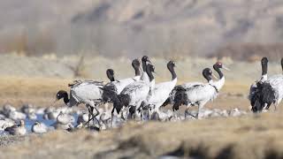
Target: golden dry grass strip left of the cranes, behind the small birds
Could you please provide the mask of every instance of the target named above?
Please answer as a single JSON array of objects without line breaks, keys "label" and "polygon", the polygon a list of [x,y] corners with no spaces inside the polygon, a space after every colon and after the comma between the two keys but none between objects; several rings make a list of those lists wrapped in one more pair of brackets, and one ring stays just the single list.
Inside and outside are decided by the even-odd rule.
[{"label": "golden dry grass strip left of the cranes, behind the small birds", "polygon": [[47,78],[0,78],[0,103],[9,102],[15,106],[33,103],[37,106],[49,106],[59,89],[67,90],[71,79]]}]

